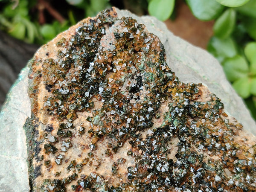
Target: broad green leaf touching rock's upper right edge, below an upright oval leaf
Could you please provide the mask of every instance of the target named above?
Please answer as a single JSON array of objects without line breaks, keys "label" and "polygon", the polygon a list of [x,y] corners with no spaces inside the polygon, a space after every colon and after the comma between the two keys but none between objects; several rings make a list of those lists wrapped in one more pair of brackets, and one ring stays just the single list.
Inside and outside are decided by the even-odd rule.
[{"label": "broad green leaf touching rock's upper right edge, below an upright oval leaf", "polygon": [[207,46],[207,50],[221,63],[225,58],[234,57],[237,54],[235,41],[228,37],[219,39],[213,36]]}]

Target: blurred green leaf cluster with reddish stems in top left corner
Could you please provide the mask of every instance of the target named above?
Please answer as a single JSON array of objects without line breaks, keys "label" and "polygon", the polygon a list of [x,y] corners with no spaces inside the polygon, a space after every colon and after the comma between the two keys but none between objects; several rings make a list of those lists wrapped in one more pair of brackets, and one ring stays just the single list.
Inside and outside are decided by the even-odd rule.
[{"label": "blurred green leaf cluster with reddish stems in top left corner", "polygon": [[[49,4],[49,1],[43,1]],[[48,19],[51,13],[46,13],[47,10],[38,14],[41,9],[39,2],[0,0],[0,30],[27,43],[45,44],[82,18],[93,17],[99,11],[110,7],[108,0],[66,0],[60,5],[68,7],[65,8],[64,20],[57,20],[54,17]],[[53,9],[58,12],[59,7]],[[40,23],[41,17],[46,17],[46,21]]]}]

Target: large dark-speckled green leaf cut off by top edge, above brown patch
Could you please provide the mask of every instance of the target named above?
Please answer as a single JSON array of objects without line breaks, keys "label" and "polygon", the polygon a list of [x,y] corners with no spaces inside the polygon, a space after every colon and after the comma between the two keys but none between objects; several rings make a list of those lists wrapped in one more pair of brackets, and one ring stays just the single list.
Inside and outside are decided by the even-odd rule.
[{"label": "large dark-speckled green leaf cut off by top edge, above brown patch", "polygon": [[224,9],[220,3],[215,0],[186,0],[191,12],[200,20],[213,20]]}]

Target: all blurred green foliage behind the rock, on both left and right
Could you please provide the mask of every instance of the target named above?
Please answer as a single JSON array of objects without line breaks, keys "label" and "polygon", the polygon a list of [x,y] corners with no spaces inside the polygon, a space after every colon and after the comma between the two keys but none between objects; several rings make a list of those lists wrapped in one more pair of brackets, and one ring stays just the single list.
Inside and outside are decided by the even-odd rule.
[{"label": "all blurred green foliage behind the rock, on both left and right", "polygon": [[[256,0],[184,2],[198,20],[214,20],[207,49],[256,119]],[[0,30],[27,43],[45,44],[84,17],[111,6],[175,20],[176,5],[177,0],[0,0]]]}]

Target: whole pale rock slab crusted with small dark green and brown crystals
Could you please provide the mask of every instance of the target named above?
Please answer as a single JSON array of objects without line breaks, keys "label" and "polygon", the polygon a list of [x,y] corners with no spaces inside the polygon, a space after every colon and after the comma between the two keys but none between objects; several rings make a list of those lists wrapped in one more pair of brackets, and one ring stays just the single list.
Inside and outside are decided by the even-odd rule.
[{"label": "whole pale rock slab crusted with small dark green and brown crystals", "polygon": [[106,10],[22,71],[0,116],[0,186],[255,191],[256,139],[230,114],[255,133],[215,59],[152,17]]}]

